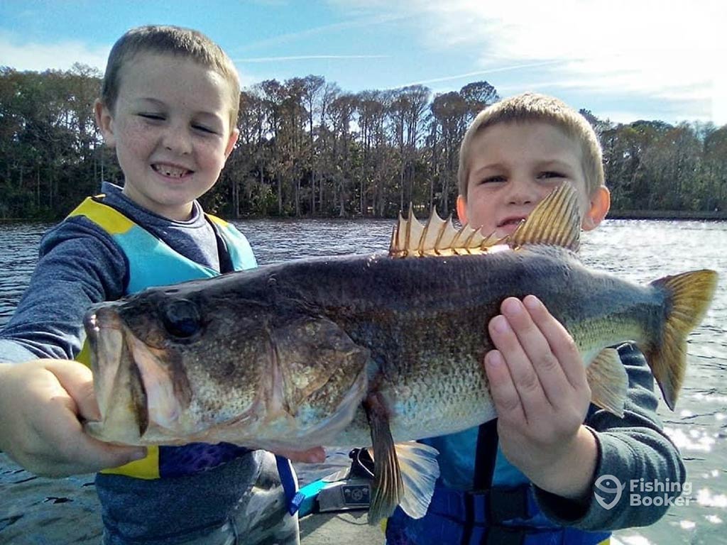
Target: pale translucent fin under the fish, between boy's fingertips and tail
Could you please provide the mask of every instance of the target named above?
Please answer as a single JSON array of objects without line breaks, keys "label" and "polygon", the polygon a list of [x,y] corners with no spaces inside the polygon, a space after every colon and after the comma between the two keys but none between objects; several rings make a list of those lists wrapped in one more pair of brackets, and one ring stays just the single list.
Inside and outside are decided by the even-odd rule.
[{"label": "pale translucent fin under the fish, between boy's fingertips and tail", "polygon": [[591,389],[593,404],[623,418],[629,377],[621,363],[618,350],[615,348],[601,350],[593,363],[586,368],[586,379]]}]

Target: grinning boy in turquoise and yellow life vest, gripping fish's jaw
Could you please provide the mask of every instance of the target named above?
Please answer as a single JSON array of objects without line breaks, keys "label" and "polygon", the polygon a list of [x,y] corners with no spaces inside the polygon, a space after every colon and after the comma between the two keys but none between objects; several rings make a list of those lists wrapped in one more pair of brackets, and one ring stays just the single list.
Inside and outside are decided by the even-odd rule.
[{"label": "grinning boy in turquoise and yellow life vest, gripping fish's jaw", "polygon": [[239,96],[232,61],[203,34],[145,26],[121,36],[95,115],[124,187],[104,183],[103,195],[45,235],[30,286],[0,332],[0,448],[39,475],[114,468],[96,480],[105,545],[299,541],[281,485],[294,486],[288,461],[225,443],[147,451],[81,428],[100,417],[91,372],[79,363],[90,305],[256,266],[244,235],[197,201],[237,141]]}]

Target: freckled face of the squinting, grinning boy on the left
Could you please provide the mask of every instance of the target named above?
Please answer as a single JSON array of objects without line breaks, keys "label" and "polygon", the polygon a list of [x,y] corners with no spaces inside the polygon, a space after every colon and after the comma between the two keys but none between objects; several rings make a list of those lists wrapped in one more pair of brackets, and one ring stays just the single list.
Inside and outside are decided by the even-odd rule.
[{"label": "freckled face of the squinting, grinning boy on the left", "polygon": [[124,194],[169,219],[220,176],[235,145],[230,85],[211,68],[174,55],[140,53],[121,69],[116,104],[97,121],[124,171]]}]

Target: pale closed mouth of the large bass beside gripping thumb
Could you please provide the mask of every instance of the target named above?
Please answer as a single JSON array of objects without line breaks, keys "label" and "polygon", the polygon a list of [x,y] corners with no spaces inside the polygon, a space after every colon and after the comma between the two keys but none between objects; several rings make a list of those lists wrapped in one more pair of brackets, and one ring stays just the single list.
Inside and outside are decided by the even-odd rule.
[{"label": "pale closed mouth of the large bass beside gripping thumb", "polygon": [[134,358],[135,339],[114,307],[105,304],[84,317],[100,421],[87,431],[100,440],[139,444],[150,413],[142,368]]}]

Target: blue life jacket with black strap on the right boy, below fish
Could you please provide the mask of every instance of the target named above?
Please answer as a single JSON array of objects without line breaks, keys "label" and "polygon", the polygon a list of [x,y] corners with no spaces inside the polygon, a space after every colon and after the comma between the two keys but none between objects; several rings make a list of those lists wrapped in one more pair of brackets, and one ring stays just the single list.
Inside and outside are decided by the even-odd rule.
[{"label": "blue life jacket with black strap on the right boy, below fish", "polygon": [[[532,485],[499,453],[497,420],[422,443],[441,449],[442,475],[425,517],[414,520],[398,507],[387,520],[387,545],[608,544],[608,532],[554,525],[542,514]],[[465,479],[474,491],[462,490]]]}]

